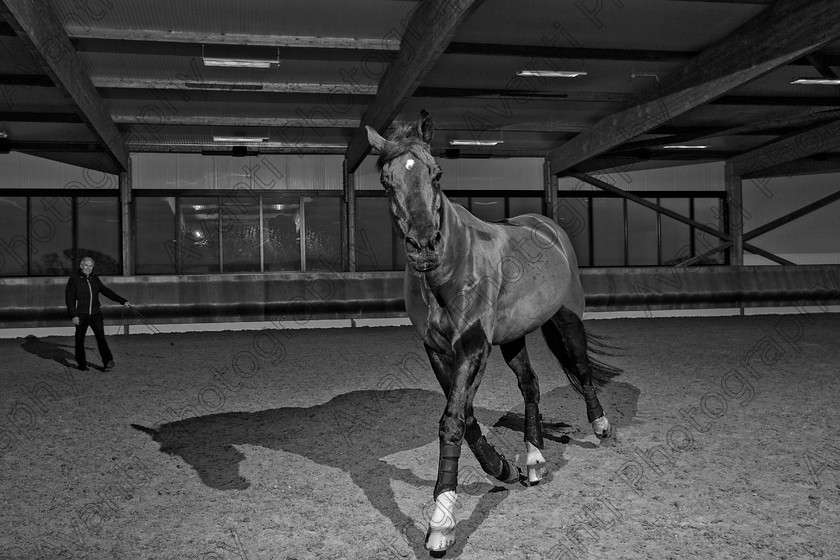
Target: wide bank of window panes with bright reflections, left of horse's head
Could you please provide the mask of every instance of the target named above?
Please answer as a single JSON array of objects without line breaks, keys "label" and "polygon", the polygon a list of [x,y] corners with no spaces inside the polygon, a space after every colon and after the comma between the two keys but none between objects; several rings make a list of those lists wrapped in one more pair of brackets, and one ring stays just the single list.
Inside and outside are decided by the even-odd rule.
[{"label": "wide bank of window panes with bright reflections, left of horse's head", "polygon": [[135,193],[137,274],[342,269],[339,196],[161,194]]}]

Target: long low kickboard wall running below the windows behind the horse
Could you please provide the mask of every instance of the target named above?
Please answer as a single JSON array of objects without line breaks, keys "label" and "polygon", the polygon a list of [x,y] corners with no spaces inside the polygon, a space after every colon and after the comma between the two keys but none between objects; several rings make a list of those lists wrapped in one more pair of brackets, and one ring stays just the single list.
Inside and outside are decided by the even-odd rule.
[{"label": "long low kickboard wall running below the windows behind the horse", "polygon": [[[587,311],[840,304],[840,267],[591,268]],[[272,273],[106,277],[156,324],[402,317],[403,273]],[[6,278],[0,328],[66,326],[66,278]],[[102,298],[108,321],[143,321]]]}]

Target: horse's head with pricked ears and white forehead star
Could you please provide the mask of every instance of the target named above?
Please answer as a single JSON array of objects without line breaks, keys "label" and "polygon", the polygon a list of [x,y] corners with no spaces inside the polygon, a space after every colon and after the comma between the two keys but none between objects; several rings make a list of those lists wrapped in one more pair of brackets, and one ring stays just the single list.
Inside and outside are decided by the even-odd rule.
[{"label": "horse's head with pricked ears and white forehead star", "polygon": [[379,150],[379,181],[388,193],[391,216],[403,236],[405,254],[418,272],[440,264],[441,170],[429,151],[432,119],[426,111],[412,125],[401,126],[386,140],[367,128],[371,146]]}]

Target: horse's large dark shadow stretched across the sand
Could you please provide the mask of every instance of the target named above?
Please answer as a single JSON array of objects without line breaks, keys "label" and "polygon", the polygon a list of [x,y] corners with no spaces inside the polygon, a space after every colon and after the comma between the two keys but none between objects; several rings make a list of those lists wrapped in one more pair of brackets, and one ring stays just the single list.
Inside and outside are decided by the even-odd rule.
[{"label": "horse's large dark shadow stretched across the sand", "polygon": [[[553,395],[561,390],[568,395]],[[556,391],[546,395],[546,400],[569,401],[569,406],[574,402],[577,408],[583,408],[580,396],[571,387]],[[635,397],[638,398],[638,390]],[[422,558],[428,555],[423,545],[425,535],[418,528],[417,520],[399,508],[391,481],[428,487],[430,495],[435,481],[420,478],[411,470],[393,466],[381,458],[437,443],[439,412],[444,405],[441,393],[421,389],[352,391],[306,408],[228,412],[169,422],[156,429],[133,427],[150,434],[162,452],[181,457],[205,485],[218,490],[244,490],[250,486],[239,472],[239,463],[245,456],[236,445],[282,450],[319,465],[341,469],[362,489],[371,505],[400,531],[415,556]],[[502,429],[522,431],[522,426],[516,426],[515,422],[512,426],[499,423],[500,419],[515,418],[513,413],[476,408],[475,414],[485,426],[495,423]],[[588,426],[585,415],[582,425]],[[522,445],[521,435],[507,439]],[[557,451],[562,455],[562,448],[553,450],[553,461],[558,459]],[[469,453],[466,446],[465,452]],[[463,470],[462,467],[462,475]],[[460,555],[469,536],[509,495],[508,490],[514,489],[494,487],[483,476],[469,478],[473,482],[467,490],[478,495],[479,500],[470,517],[459,521],[460,537],[447,556]],[[481,482],[475,482],[479,479]]]}]

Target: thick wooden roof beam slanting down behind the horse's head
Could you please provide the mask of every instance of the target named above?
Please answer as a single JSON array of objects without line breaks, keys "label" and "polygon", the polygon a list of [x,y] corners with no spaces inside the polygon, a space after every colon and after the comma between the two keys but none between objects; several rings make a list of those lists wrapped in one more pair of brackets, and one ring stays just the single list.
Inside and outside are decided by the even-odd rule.
[{"label": "thick wooden roof beam slanting down behind the horse's head", "polygon": [[347,147],[347,169],[353,172],[370,151],[364,126],[382,130],[394,117],[449,45],[455,31],[483,0],[424,0],[411,16],[400,50],[379,81],[373,103]]}]

